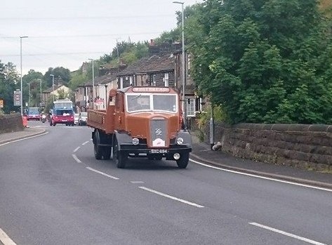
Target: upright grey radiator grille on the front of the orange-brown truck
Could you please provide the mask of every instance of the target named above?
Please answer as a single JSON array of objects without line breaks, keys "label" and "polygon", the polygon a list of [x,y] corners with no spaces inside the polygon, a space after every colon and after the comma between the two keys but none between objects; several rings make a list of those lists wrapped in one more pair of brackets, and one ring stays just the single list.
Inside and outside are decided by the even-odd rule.
[{"label": "upright grey radiator grille on the front of the orange-brown truck", "polygon": [[166,129],[166,120],[164,118],[154,118],[150,121],[152,147],[166,147]]}]

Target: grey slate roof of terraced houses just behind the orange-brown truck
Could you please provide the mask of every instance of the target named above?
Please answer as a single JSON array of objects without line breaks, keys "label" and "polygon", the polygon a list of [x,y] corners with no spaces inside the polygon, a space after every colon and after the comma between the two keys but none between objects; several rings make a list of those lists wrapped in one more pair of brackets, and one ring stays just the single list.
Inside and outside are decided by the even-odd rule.
[{"label": "grey slate roof of terraced houses just behind the orange-brown truck", "polygon": [[164,55],[152,55],[150,58],[142,58],[117,74],[127,76],[133,74],[147,74],[152,72],[170,71],[174,69],[175,56],[173,53]]}]

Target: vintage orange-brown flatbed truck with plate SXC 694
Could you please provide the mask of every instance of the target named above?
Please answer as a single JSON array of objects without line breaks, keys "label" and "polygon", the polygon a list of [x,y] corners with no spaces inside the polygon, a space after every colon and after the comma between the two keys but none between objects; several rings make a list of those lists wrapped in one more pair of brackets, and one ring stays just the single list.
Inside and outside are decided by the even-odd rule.
[{"label": "vintage orange-brown flatbed truck with plate SXC 694", "polygon": [[128,157],[176,161],[186,168],[192,151],[182,127],[180,95],[175,88],[131,86],[109,91],[106,110],[88,110],[95,159],[125,168]]}]

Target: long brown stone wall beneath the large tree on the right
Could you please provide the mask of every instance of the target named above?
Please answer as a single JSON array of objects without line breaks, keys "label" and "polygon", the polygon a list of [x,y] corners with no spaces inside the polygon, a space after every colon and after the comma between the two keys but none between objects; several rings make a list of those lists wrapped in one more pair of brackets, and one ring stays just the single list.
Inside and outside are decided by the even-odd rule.
[{"label": "long brown stone wall beneath the large tree on the right", "polygon": [[235,157],[332,171],[332,125],[220,124],[217,141]]}]

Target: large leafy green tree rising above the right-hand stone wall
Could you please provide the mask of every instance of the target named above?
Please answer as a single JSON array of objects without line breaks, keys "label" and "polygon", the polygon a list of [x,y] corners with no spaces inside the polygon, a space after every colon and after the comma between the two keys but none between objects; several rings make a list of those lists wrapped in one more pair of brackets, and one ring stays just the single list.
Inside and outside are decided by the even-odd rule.
[{"label": "large leafy green tree rising above the right-hand stone wall", "polygon": [[315,0],[207,0],[187,32],[199,93],[232,123],[332,122],[331,34]]}]

